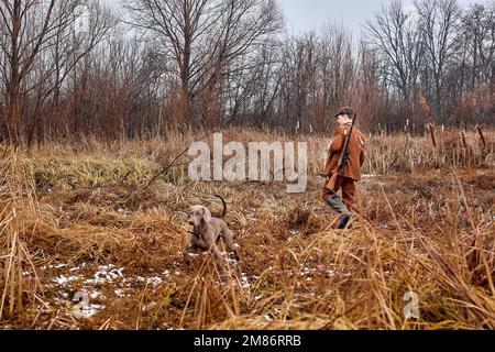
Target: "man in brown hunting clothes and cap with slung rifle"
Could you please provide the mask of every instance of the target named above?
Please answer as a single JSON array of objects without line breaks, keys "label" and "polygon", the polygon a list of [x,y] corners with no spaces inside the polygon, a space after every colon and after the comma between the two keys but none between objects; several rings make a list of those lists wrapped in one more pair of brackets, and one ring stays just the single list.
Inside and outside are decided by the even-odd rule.
[{"label": "man in brown hunting clothes and cap with slung rifle", "polygon": [[[336,113],[338,127],[329,145],[324,165],[327,180],[323,185],[322,198],[332,209],[342,215],[338,226],[339,229],[345,229],[351,219],[352,212],[350,209],[355,205],[355,182],[361,179],[361,167],[364,163],[364,134],[354,125],[349,142],[349,160],[345,170],[341,175],[337,174],[344,152],[345,140],[351,132],[353,116],[354,111],[349,107],[343,107]],[[340,188],[342,188],[343,202],[337,195]]]}]

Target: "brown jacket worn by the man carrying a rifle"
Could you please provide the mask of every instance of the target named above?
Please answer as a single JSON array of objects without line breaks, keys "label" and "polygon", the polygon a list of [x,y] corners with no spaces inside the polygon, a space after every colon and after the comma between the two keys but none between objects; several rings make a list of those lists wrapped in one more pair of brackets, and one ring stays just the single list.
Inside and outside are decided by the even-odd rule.
[{"label": "brown jacket worn by the man carrying a rifle", "polygon": [[[340,125],[337,128],[333,140],[329,145],[327,163],[324,164],[324,175],[331,176],[339,167],[340,156],[345,146],[345,139],[351,129],[351,124]],[[349,161],[345,167],[344,177],[354,180],[361,179],[361,167],[364,163],[364,134],[359,131],[355,125],[352,130],[351,141],[349,143]]]}]

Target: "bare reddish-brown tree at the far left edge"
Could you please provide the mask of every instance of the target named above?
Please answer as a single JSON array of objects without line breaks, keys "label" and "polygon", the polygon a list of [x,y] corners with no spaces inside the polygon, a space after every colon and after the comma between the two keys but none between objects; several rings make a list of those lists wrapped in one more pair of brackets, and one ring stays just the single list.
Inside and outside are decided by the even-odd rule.
[{"label": "bare reddish-brown tree at the far left edge", "polygon": [[[75,9],[80,4],[80,0],[0,1],[0,54],[7,64],[0,68],[6,99],[2,120],[9,141],[18,146],[23,139],[33,139],[34,131],[42,127],[38,120],[41,103],[52,92],[59,92],[68,72],[96,45],[108,28],[99,20],[101,12],[96,11],[90,40],[86,43],[70,41]],[[55,57],[51,59],[51,55]],[[50,85],[54,75],[55,80]],[[33,91],[37,94],[34,98]],[[34,122],[26,113],[29,101],[33,99]]]}]

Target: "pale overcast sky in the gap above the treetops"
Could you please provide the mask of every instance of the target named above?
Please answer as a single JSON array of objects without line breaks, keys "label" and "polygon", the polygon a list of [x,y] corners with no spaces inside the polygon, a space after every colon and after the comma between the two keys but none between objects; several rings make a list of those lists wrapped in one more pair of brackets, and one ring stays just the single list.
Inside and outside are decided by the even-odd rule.
[{"label": "pale overcast sky in the gap above the treetops", "polygon": [[[380,11],[387,0],[277,0],[280,4],[289,33],[318,31],[326,23],[344,24],[353,36],[361,34],[362,24]],[[488,3],[491,0],[459,0],[459,4]],[[414,0],[404,0],[405,6],[413,6]]]}]

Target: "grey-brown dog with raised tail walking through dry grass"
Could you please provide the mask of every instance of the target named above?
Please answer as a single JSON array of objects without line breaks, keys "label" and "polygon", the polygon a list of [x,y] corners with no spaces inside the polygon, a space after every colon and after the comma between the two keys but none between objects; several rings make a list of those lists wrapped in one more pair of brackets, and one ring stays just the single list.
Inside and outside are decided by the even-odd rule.
[{"label": "grey-brown dog with raised tail walking through dry grass", "polygon": [[[223,212],[221,218],[227,213],[227,205],[222,197],[217,196],[222,200]],[[190,254],[211,251],[216,258],[218,267],[223,271],[223,258],[218,250],[218,244],[222,238],[226,242],[229,252],[234,254],[239,261],[238,251],[234,248],[232,231],[229,230],[226,222],[221,218],[211,217],[211,212],[204,206],[194,206],[191,209],[191,217],[189,223],[193,226],[190,235],[190,245],[184,250],[184,260],[186,264],[190,263]]]}]

